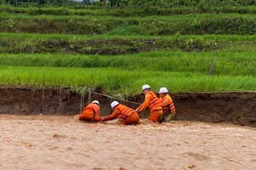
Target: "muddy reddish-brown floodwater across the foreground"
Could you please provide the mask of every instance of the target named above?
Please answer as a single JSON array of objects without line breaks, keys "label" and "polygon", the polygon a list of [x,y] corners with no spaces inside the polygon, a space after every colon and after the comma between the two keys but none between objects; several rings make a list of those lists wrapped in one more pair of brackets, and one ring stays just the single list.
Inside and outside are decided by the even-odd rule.
[{"label": "muddy reddish-brown floodwater across the foreground", "polygon": [[0,169],[256,169],[256,130],[203,122],[139,126],[0,115]]}]

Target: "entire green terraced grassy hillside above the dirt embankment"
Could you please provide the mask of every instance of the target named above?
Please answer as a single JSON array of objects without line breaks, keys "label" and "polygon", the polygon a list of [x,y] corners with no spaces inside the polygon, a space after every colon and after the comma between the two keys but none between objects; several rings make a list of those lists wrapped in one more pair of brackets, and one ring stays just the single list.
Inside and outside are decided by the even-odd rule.
[{"label": "entire green terraced grassy hillside above the dirt embankment", "polygon": [[253,7],[172,16],[174,9],[118,16],[120,9],[37,10],[1,12],[1,85],[102,86],[109,94],[139,94],[145,83],[154,91],[256,91]]}]

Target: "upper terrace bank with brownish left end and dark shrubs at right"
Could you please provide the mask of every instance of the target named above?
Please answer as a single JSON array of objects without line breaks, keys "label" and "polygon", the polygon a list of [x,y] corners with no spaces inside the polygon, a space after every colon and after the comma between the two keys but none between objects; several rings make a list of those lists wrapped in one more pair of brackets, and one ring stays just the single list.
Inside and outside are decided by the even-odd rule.
[{"label": "upper terrace bank with brownish left end and dark shrubs at right", "polygon": [[0,31],[43,34],[181,35],[256,33],[254,14],[193,14],[183,16],[29,16],[1,14]]}]

